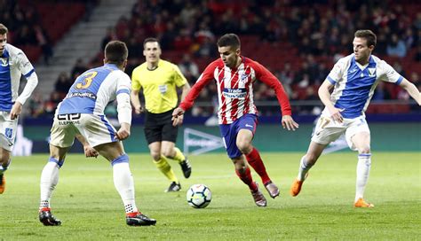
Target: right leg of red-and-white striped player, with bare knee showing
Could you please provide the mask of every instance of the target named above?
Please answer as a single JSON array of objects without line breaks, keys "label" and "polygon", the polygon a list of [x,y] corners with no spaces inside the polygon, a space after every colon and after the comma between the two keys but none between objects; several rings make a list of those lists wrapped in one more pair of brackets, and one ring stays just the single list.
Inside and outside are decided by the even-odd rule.
[{"label": "right leg of red-and-white striped player, with bare knee showing", "polygon": [[244,115],[239,122],[237,123],[237,128],[239,129],[236,145],[238,149],[245,155],[247,162],[251,167],[258,173],[262,179],[262,183],[265,186],[266,190],[269,192],[269,195],[272,198],[279,196],[278,187],[272,182],[269,175],[267,175],[265,164],[260,157],[258,149],[256,149],[251,141],[253,140],[254,133],[256,132],[257,126],[257,116],[254,114]]}]

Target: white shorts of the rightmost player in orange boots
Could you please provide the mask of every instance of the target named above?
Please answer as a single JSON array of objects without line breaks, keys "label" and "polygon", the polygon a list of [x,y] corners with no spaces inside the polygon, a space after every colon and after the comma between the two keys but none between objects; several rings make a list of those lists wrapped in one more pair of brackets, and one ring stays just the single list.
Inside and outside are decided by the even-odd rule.
[{"label": "white shorts of the rightmost player in orange boots", "polygon": [[344,122],[339,123],[333,121],[330,117],[321,116],[317,121],[312,141],[317,144],[330,144],[338,139],[342,134],[346,135],[346,143],[351,150],[356,151],[351,138],[361,132],[369,133],[369,125],[365,121],[365,116],[359,116],[353,119],[344,119]]}]

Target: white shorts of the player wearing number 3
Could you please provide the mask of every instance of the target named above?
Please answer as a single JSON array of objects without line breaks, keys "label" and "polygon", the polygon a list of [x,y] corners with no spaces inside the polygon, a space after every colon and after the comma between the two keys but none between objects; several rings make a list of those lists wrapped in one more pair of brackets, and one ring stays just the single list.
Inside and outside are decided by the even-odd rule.
[{"label": "white shorts of the player wearing number 3", "polygon": [[56,114],[52,123],[50,144],[70,147],[75,135],[81,134],[91,145],[117,142],[115,128],[104,115],[89,113]]}]

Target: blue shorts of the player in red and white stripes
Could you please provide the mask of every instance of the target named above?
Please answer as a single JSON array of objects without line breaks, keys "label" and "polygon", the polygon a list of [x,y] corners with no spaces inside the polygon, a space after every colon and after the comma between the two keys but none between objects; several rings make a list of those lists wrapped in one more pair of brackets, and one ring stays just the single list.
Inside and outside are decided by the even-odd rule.
[{"label": "blue shorts of the player in red and white stripes", "polygon": [[222,140],[224,141],[226,148],[226,153],[230,159],[238,158],[242,155],[242,152],[240,152],[236,144],[237,134],[240,129],[250,129],[254,136],[257,126],[258,116],[253,113],[247,113],[231,124],[219,125]]}]

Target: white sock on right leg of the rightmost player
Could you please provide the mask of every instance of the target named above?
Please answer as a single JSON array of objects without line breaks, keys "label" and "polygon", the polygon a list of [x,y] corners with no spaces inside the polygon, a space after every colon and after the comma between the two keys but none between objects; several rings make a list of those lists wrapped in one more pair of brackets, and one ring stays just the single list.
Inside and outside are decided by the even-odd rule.
[{"label": "white sock on right leg of the rightmost player", "polygon": [[371,153],[358,155],[357,181],[355,190],[355,202],[364,196],[365,186],[369,181],[369,168],[371,167]]}]

